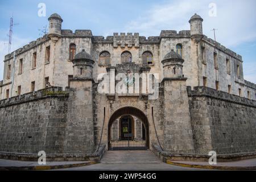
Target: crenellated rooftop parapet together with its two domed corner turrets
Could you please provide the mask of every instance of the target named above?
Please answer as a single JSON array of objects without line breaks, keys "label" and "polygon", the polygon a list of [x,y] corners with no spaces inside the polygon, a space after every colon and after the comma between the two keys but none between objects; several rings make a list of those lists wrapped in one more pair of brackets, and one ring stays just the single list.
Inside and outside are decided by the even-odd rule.
[{"label": "crenellated rooftop parapet together with its two domed corner turrets", "polygon": [[[42,44],[49,39],[52,39],[53,42],[56,42],[61,37],[63,38],[90,38],[93,43],[113,43],[114,47],[139,47],[140,43],[145,44],[158,44],[161,42],[163,38],[195,38],[200,35],[200,41],[210,44],[210,46],[216,47],[220,51],[227,53],[228,55],[235,57],[237,60],[242,61],[242,56],[237,53],[231,51],[230,49],[222,46],[218,42],[214,42],[214,40],[207,38],[207,36],[203,35],[202,22],[203,19],[201,16],[195,14],[189,20],[189,23],[193,27],[191,30],[182,30],[177,33],[176,30],[162,30],[160,36],[150,36],[147,39],[144,36],[139,36],[139,33],[123,33],[118,34],[115,32],[113,36],[107,36],[106,39],[104,36],[93,36],[91,30],[76,30],[73,32],[72,30],[62,30],[61,24],[63,23],[63,19],[57,13],[52,14],[48,18],[49,20],[49,33],[43,38],[39,38],[36,41],[33,41],[26,46],[19,48],[15,51],[16,55],[20,55],[23,52],[26,52],[39,44]],[[202,38],[201,38],[202,37]],[[14,52],[5,56],[5,61],[12,59],[14,56]]]}]

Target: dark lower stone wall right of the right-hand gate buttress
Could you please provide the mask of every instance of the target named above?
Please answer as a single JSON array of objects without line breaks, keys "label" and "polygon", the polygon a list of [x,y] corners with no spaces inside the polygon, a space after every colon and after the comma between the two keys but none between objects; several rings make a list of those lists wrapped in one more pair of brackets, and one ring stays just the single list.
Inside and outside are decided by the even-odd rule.
[{"label": "dark lower stone wall right of the right-hand gate buttress", "polygon": [[196,153],[256,151],[256,102],[203,86],[188,87]]}]

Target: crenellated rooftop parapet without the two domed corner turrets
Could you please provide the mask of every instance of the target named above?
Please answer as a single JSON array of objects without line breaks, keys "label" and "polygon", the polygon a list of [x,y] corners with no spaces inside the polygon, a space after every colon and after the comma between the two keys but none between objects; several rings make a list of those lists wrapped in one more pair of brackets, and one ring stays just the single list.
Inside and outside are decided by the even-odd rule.
[{"label": "crenellated rooftop parapet without the two domed corner turrets", "polygon": [[[61,37],[63,38],[90,38],[92,39],[93,43],[113,43],[114,47],[117,47],[118,45],[121,47],[124,46],[135,46],[139,47],[140,43],[147,43],[147,44],[158,44],[163,38],[190,38],[190,31],[189,30],[182,30],[177,33],[175,30],[162,30],[160,33],[160,36],[149,36],[146,38],[145,36],[139,36],[139,33],[114,33],[113,36],[107,36],[104,38],[104,36],[93,36],[91,30],[76,30],[73,32],[72,30],[61,30]],[[16,56],[29,51],[32,48],[35,48],[36,46],[39,46],[40,44],[43,44],[49,40],[48,36],[45,35],[42,38],[36,39],[36,41],[32,41],[29,44],[23,46],[22,48],[16,49],[16,51],[13,51],[5,56],[5,61],[13,59],[14,52],[16,53]],[[242,61],[242,56],[238,55],[236,52],[231,51],[230,49],[226,48],[225,46],[222,46],[220,43],[216,42],[213,39],[208,38],[204,35],[203,42],[210,44],[211,46],[216,47],[220,51],[227,53],[228,55],[236,58],[237,60]]]}]

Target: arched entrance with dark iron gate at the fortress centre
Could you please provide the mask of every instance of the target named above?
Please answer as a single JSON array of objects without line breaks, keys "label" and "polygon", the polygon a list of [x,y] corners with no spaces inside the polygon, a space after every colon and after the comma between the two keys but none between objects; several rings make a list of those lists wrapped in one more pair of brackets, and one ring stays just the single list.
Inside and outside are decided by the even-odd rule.
[{"label": "arched entrance with dark iron gate at the fortress centre", "polygon": [[147,150],[149,129],[146,115],[135,107],[123,107],[109,119],[109,150]]}]

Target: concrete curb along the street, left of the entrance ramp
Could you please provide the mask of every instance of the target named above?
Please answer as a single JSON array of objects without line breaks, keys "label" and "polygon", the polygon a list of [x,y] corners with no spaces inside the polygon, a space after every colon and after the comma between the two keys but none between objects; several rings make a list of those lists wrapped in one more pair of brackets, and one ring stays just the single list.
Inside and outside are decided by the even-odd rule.
[{"label": "concrete curb along the street, left of the entrance ramp", "polygon": [[81,166],[89,166],[91,164],[96,164],[97,162],[82,162],[76,164],[60,164],[52,166],[0,166],[0,171],[42,171],[50,169],[64,169],[64,168],[73,168]]}]

